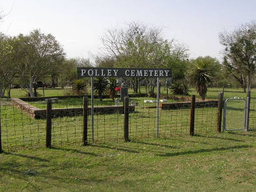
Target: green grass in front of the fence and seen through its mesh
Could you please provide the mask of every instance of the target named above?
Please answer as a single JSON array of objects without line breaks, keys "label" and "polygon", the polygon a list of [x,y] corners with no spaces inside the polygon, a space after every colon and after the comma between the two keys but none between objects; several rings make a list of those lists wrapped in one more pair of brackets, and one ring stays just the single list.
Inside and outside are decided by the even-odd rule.
[{"label": "green grass in front of the fence and seen through its mesh", "polygon": [[[52,94],[55,91],[51,90]],[[217,98],[219,91],[209,89],[207,98]],[[255,93],[252,90],[252,97]],[[235,96],[245,94],[242,90],[224,93],[225,98]],[[134,99],[141,102],[144,98]],[[67,102],[74,104],[72,100]],[[216,133],[217,108],[196,108],[195,136],[190,137],[190,109],[184,108],[160,111],[160,138],[155,138],[156,109],[139,104],[129,117],[131,142],[122,139],[122,114],[95,115],[95,142],[82,146],[82,117],[74,116],[52,120],[51,149],[44,148],[46,121],[34,120],[8,103],[9,100],[1,100],[4,153],[0,154],[0,191],[256,188],[255,100],[251,102],[250,125],[255,128],[251,132]],[[230,105],[229,127],[240,123],[242,104]],[[88,123],[91,142],[91,121]]]}]

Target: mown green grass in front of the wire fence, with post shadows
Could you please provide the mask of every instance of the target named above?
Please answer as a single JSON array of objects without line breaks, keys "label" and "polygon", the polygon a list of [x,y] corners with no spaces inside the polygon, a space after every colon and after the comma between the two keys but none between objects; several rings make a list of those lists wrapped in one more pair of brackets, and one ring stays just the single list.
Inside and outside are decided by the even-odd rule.
[{"label": "mown green grass in front of the wire fence, with post shadows", "polygon": [[0,154],[0,191],[254,191],[255,132]]}]

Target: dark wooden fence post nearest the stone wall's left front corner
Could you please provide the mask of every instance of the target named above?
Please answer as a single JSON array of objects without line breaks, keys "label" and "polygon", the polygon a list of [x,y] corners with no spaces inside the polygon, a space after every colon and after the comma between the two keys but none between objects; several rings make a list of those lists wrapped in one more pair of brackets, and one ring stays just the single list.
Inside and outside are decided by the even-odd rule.
[{"label": "dark wooden fence post nearest the stone wall's left front corner", "polygon": [[52,101],[46,100],[46,148],[51,148],[52,140]]}]

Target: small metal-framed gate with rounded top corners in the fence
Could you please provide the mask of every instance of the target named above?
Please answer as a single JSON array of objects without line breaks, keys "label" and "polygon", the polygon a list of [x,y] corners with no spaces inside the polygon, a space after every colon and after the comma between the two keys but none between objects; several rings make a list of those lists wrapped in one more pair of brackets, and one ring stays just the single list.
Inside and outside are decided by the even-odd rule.
[{"label": "small metal-framed gate with rounded top corners in the fence", "polygon": [[224,102],[223,131],[244,130],[246,123],[245,98],[228,98]]}]

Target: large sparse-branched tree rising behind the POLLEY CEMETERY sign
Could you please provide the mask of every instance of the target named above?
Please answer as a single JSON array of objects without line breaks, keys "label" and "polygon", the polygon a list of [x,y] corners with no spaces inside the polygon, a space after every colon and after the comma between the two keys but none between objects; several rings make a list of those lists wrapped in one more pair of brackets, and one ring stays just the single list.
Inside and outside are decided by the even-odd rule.
[{"label": "large sparse-branched tree rising behind the POLLEY CEMETERY sign", "polygon": [[[115,59],[115,67],[167,68],[172,60],[170,57],[176,54],[180,59],[187,51],[175,44],[174,40],[163,39],[160,29],[149,28],[139,22],[131,22],[126,29],[108,30],[102,37],[102,44],[104,55]],[[135,92],[140,80],[138,77],[132,79]],[[156,79],[145,80],[147,92],[154,94]]]}]

